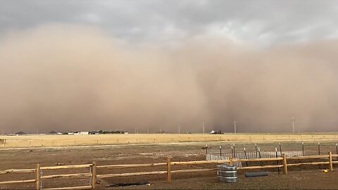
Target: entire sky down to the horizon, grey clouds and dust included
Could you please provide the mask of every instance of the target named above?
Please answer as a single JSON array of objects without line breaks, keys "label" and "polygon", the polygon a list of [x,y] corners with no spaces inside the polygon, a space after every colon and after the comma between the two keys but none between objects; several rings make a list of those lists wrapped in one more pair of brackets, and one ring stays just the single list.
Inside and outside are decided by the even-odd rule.
[{"label": "entire sky down to the horizon, grey clouds and dust included", "polygon": [[335,132],[337,1],[0,0],[0,129]]}]

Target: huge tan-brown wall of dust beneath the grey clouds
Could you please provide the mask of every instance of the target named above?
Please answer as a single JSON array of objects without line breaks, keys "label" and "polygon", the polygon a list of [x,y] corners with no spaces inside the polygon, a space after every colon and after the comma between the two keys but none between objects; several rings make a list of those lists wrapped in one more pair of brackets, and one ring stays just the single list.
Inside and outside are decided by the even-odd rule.
[{"label": "huge tan-brown wall of dust beneath the grey clouds", "polygon": [[134,45],[96,27],[50,24],[0,37],[5,132],[335,131],[337,40],[257,48],[187,38]]}]

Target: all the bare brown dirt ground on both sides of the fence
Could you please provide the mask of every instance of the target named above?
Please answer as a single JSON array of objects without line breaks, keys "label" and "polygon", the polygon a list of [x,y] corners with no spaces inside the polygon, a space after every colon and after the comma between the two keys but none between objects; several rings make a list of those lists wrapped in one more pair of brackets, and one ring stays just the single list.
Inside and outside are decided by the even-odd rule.
[{"label": "all the bare brown dirt ground on both sides of the fence", "polygon": [[[231,146],[228,142],[197,142],[179,144],[148,144],[148,145],[111,145],[111,146],[71,146],[51,148],[3,148],[0,150],[0,170],[35,168],[39,163],[41,166],[79,165],[96,161],[97,165],[116,165],[132,163],[164,163],[168,157],[173,161],[205,160],[206,149],[202,148],[208,144],[208,151],[218,151],[223,147],[223,152],[230,152]],[[258,144],[261,151],[274,151],[279,144]],[[253,151],[254,144],[236,144],[237,151]],[[301,143],[282,142],[283,151],[299,151]],[[307,143],[304,146],[306,155],[318,154],[318,144]],[[335,153],[335,142],[320,144],[321,154],[327,151]],[[268,164],[268,163],[263,163]],[[256,163],[259,165],[259,163]],[[185,169],[213,168],[215,165],[190,165]],[[99,179],[98,189],[338,189],[338,171],[327,173],[321,172],[327,165],[289,167],[288,175],[278,175],[277,169],[270,169],[268,177],[244,177],[244,172],[239,171],[238,181],[234,184],[218,182],[215,171],[173,174],[173,182],[165,183],[165,175],[142,175],[135,177],[112,177]],[[334,165],[337,167],[337,165]],[[173,170],[182,170],[183,167],[173,166]],[[98,174],[144,172],[153,170],[166,170],[165,165],[158,167],[137,167],[130,169],[98,170]],[[259,170],[258,170],[259,171]],[[74,171],[75,172],[75,171]],[[77,171],[78,172],[78,171]],[[88,171],[87,171],[88,172]],[[1,178],[1,177],[0,177]],[[17,180],[17,179],[11,179]],[[89,184],[89,180],[84,179]],[[4,178],[1,181],[7,181]],[[108,187],[109,184],[118,182],[142,182],[149,181],[150,186],[125,186]],[[73,186],[81,180],[62,178],[59,182],[49,185],[44,182],[44,188]],[[76,185],[76,186],[77,186]],[[31,189],[32,186],[15,187],[18,189]],[[0,189],[14,189],[14,186],[1,186]]]}]

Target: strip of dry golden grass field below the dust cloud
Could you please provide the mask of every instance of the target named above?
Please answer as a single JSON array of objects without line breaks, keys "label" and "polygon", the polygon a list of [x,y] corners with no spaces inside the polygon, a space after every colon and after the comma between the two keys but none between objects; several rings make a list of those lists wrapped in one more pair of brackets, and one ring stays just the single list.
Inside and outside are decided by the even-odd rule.
[{"label": "strip of dry golden grass field below the dust cloud", "polygon": [[92,134],[0,136],[0,148],[88,146],[105,144],[158,144],[192,141],[336,141],[338,133],[325,134]]}]

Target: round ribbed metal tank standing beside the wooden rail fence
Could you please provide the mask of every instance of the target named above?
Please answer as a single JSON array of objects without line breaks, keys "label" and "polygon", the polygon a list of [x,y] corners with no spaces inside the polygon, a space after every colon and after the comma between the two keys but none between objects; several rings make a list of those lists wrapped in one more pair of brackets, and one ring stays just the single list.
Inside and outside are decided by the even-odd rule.
[{"label": "round ribbed metal tank standing beside the wooden rail fence", "polygon": [[217,165],[217,178],[222,182],[237,182],[237,167],[235,165]]}]

